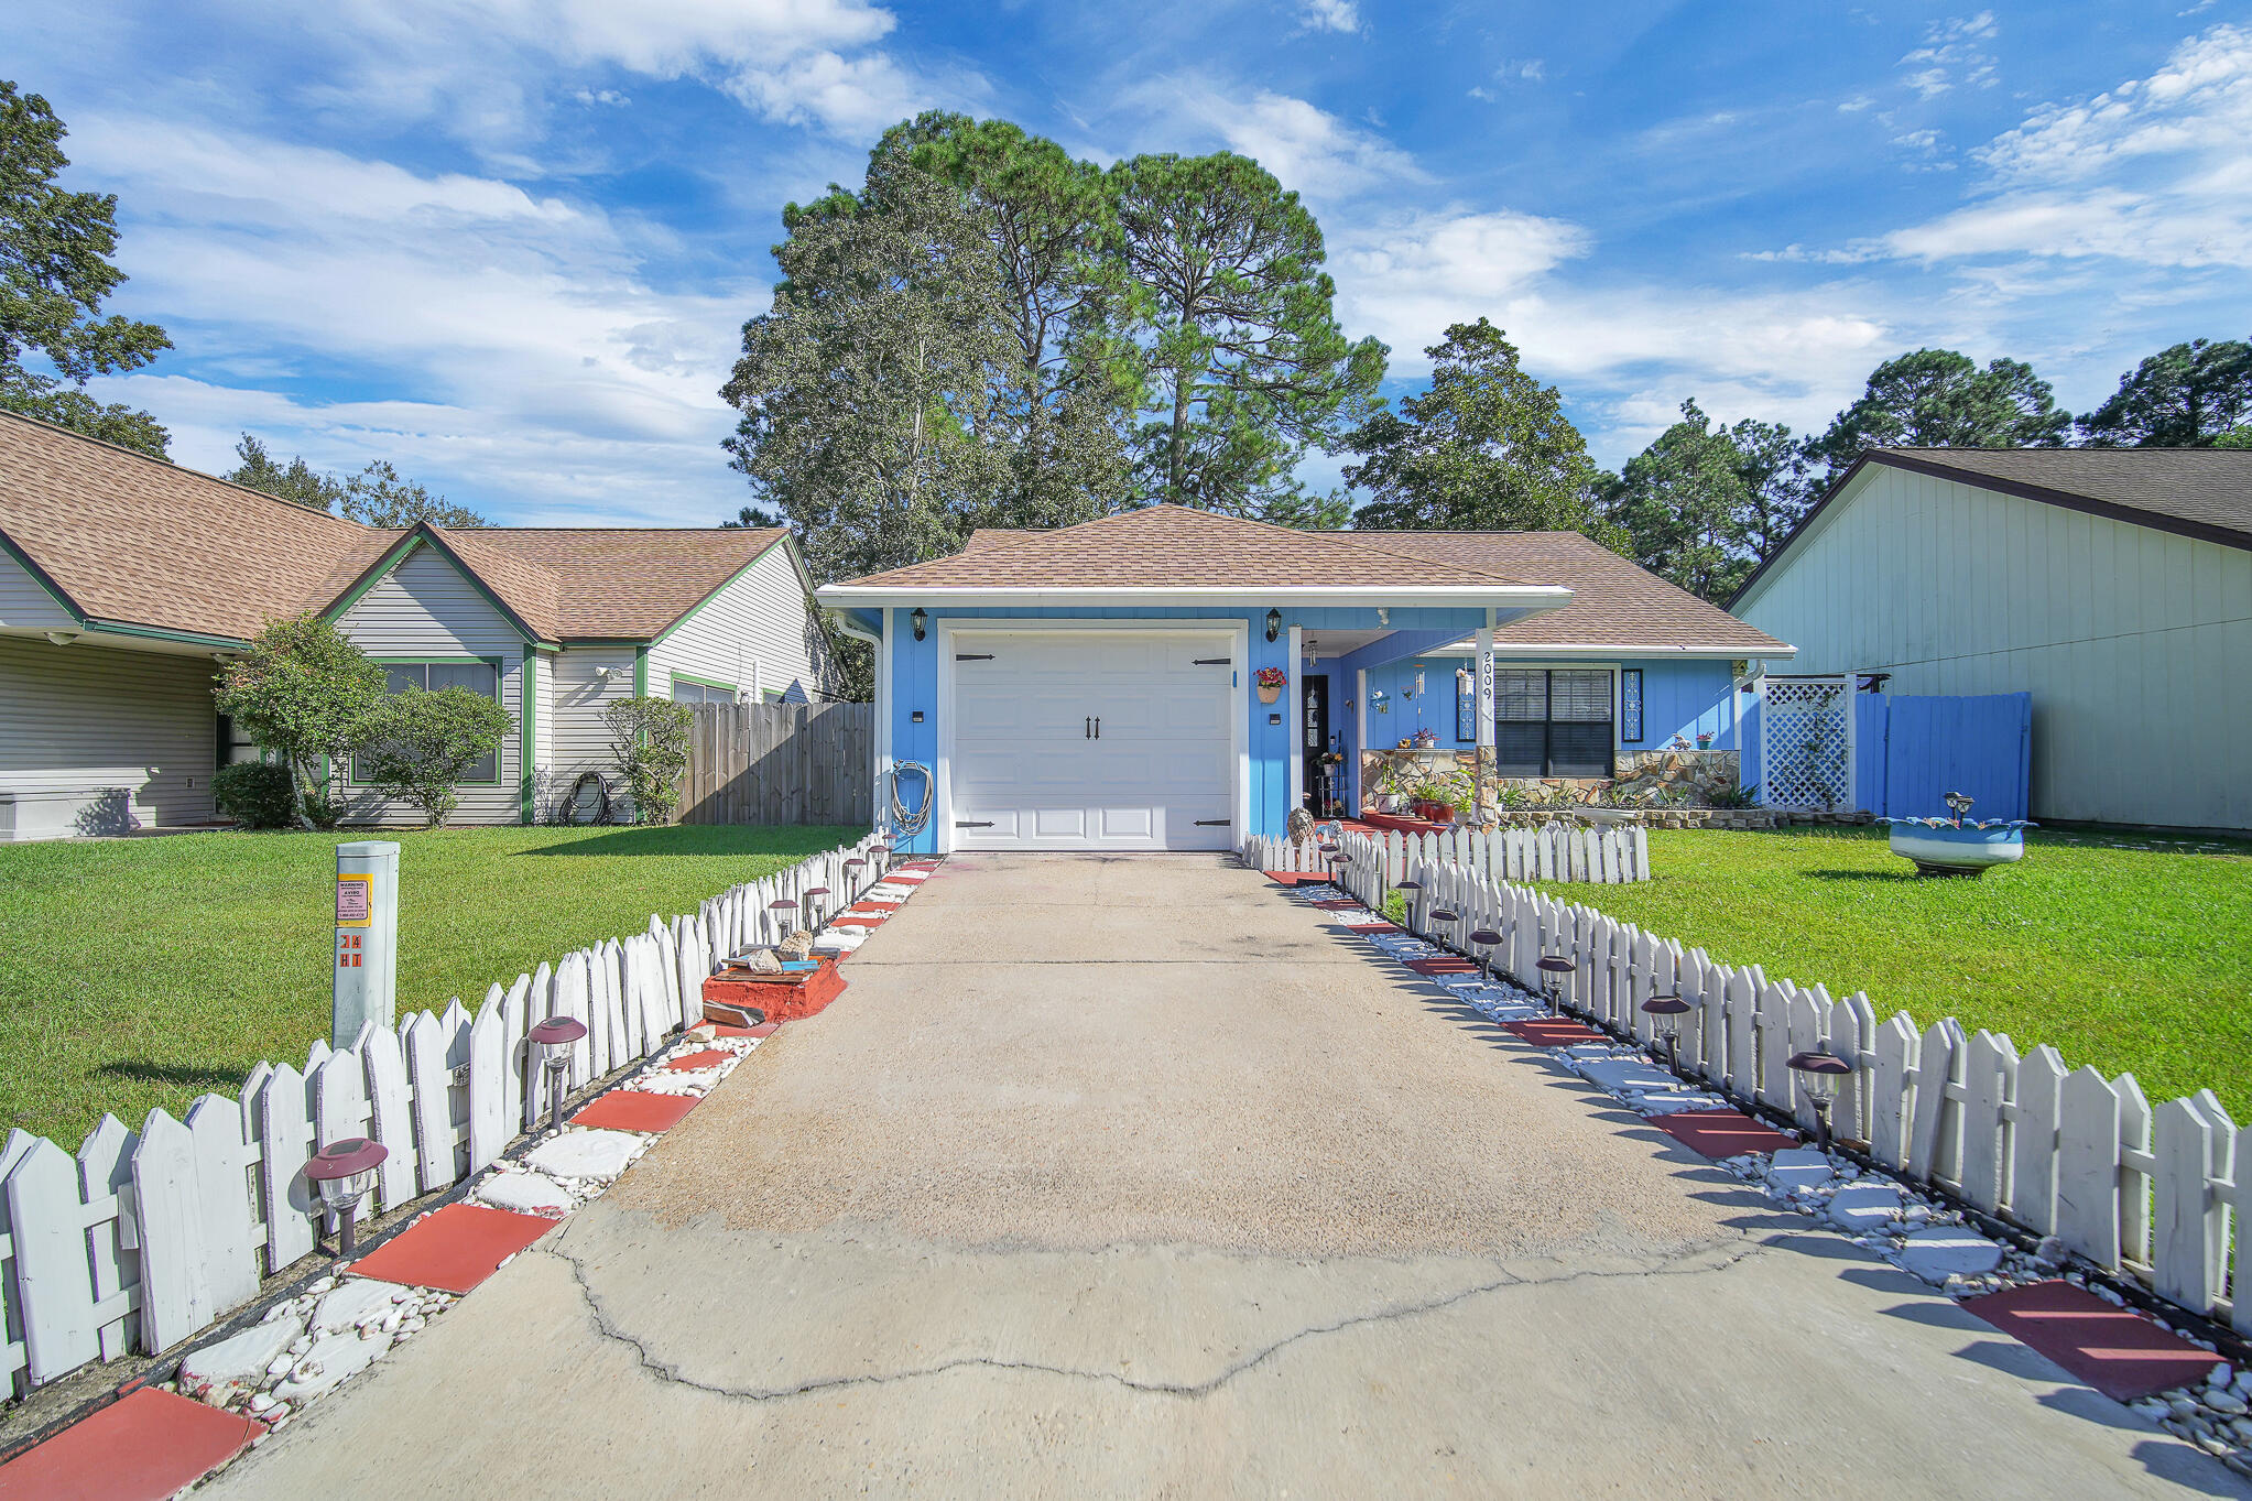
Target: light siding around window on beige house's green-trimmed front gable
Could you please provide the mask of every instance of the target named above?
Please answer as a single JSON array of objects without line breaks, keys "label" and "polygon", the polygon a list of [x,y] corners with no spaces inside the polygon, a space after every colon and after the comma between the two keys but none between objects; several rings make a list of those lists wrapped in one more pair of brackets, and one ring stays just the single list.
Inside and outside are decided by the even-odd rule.
[{"label": "light siding around window on beige house's green-trimmed front gable", "polygon": [[[500,707],[518,731],[500,747],[498,783],[462,783],[455,824],[522,821],[525,637],[441,554],[417,547],[342,617],[345,635],[369,657],[500,662]],[[351,824],[419,824],[419,810],[363,788],[347,788]]]}]

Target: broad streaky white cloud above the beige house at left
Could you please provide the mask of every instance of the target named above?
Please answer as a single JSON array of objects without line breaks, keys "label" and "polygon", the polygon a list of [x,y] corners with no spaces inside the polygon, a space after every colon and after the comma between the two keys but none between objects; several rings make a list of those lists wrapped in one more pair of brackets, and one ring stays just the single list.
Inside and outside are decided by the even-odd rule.
[{"label": "broad streaky white cloud above the beige house at left", "polygon": [[[718,385],[761,286],[658,290],[631,225],[493,178],[144,119],[74,126],[79,164],[133,205],[135,293],[203,376],[104,389],[176,423],[182,459],[223,466],[241,428],[272,428],[320,466],[392,457],[464,504],[709,522],[734,495]],[[338,367],[401,401],[232,389]]]}]

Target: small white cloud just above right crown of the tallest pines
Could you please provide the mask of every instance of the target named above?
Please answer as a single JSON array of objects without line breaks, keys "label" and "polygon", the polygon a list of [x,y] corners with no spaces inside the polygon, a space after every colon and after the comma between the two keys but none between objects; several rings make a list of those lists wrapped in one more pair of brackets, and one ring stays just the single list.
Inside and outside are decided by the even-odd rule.
[{"label": "small white cloud just above right crown of the tallest pines", "polygon": [[1261,88],[1239,99],[1200,74],[1171,74],[1131,90],[1128,101],[1164,126],[1169,151],[1180,149],[1180,124],[1189,122],[1313,198],[1428,182],[1405,151],[1290,95]]}]

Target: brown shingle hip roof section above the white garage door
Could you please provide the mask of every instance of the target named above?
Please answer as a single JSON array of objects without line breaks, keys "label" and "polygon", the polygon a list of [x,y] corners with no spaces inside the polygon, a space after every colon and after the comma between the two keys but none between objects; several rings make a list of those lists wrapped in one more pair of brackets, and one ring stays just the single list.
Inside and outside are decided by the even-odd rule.
[{"label": "brown shingle hip roof section above the white garage door", "polygon": [[[1538,585],[1473,560],[1417,558],[1347,531],[1293,531],[1189,506],[1144,506],[1056,531],[982,531],[950,558],[854,578],[851,587],[1072,590],[1072,587],[1288,587],[1288,585]],[[975,540],[973,538],[973,540]]]}]

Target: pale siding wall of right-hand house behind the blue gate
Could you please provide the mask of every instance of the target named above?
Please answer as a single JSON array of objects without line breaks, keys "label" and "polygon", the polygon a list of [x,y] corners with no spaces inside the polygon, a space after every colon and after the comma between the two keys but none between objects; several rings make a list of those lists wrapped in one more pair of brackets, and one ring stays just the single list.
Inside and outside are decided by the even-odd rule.
[{"label": "pale siding wall of right-hand house behind the blue gate", "polygon": [[2252,828],[2252,554],[1869,464],[1736,614],[1793,673],[2031,693],[2036,819]]}]

